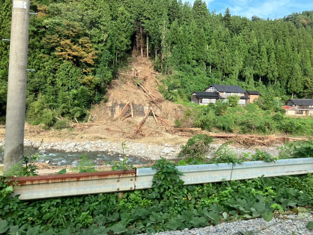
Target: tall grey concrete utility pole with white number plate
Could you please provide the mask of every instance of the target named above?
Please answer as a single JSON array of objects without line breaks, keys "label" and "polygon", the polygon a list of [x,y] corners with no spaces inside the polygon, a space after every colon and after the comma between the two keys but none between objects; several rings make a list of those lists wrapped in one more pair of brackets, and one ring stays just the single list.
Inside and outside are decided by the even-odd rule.
[{"label": "tall grey concrete utility pole with white number plate", "polygon": [[30,0],[12,6],[4,171],[23,159]]}]

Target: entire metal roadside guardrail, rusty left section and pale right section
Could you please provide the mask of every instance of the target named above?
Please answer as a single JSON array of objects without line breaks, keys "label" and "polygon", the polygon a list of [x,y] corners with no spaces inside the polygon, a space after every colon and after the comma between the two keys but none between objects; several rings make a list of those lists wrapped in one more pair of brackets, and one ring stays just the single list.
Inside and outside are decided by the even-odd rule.
[{"label": "entire metal roadside guardrail, rusty left section and pale right section", "polygon": [[[177,166],[184,175],[185,185],[221,182],[223,180],[245,180],[264,175],[301,175],[313,173],[313,158],[282,159],[276,162],[243,162],[242,164],[206,164]],[[62,196],[78,196],[151,188],[156,170],[116,170],[64,175],[42,175],[12,178],[20,186],[14,195],[21,200]]]}]

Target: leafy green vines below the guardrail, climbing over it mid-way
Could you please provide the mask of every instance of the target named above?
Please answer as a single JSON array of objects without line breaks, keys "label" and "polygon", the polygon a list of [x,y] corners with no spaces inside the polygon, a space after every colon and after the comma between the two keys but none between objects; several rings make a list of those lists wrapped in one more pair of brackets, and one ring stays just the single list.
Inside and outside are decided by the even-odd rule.
[{"label": "leafy green vines below the guardrail, climbing over it mid-way", "polygon": [[[183,185],[181,172],[161,159],[153,188],[22,202],[0,181],[0,232],[20,235],[137,234],[203,227],[234,219],[294,212],[313,203],[313,177],[284,176]],[[275,213],[274,213],[275,212]]]}]

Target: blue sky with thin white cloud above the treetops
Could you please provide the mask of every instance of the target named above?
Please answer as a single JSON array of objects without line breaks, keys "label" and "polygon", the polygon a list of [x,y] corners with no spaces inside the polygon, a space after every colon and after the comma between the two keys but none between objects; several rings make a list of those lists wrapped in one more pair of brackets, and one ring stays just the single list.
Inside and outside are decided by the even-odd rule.
[{"label": "blue sky with thin white cloud above the treetops", "polygon": [[[256,15],[260,18],[283,18],[293,12],[313,10],[313,0],[204,0],[212,12],[224,14],[229,7],[232,15],[241,15],[251,18]],[[185,1],[193,4],[193,0]]]}]

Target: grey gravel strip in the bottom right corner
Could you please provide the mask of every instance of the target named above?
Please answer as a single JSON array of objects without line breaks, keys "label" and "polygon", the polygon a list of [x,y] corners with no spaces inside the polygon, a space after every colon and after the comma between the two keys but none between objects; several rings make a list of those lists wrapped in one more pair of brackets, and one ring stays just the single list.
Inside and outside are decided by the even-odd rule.
[{"label": "grey gravel strip in the bottom right corner", "polygon": [[[303,234],[311,235],[313,231],[306,229],[309,221],[313,221],[312,214],[306,213],[306,217],[299,218],[297,215],[288,215],[284,218],[275,218],[270,222],[264,221],[262,218],[251,220],[239,220],[230,223],[221,223],[216,226],[203,228],[193,228],[183,231],[170,231],[152,233],[156,235],[293,235]],[[141,235],[145,235],[142,233]]]}]

